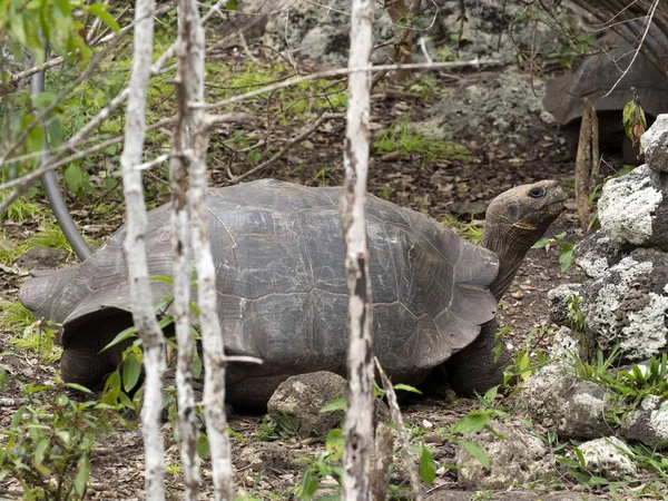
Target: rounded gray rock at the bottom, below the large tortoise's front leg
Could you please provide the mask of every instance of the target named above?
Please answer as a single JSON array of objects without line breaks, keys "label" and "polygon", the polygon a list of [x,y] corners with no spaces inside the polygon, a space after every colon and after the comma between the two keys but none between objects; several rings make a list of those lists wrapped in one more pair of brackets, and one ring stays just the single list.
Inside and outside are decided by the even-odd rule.
[{"label": "rounded gray rock at the bottom, below the large tortoise's front leg", "polygon": [[485,470],[478,460],[464,450],[456,454],[458,484],[464,489],[505,489],[513,483],[523,483],[544,478],[553,468],[553,460],[542,441],[532,435],[527,425],[514,423],[492,423],[498,435],[489,431],[474,438],[484,449],[490,460]]}]

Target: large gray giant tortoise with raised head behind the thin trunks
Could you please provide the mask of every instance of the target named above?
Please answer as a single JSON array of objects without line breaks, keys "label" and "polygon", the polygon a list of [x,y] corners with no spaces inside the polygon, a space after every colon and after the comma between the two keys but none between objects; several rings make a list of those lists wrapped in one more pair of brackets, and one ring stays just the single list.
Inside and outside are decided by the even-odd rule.
[{"label": "large gray giant tortoise with raised head behind the thin trunks", "polygon": [[[294,374],[345,374],[340,196],[340,188],[277,180],[208,190],[225,350],[264,361],[229,367],[230,403],[262,406]],[[510,189],[491,203],[482,246],[475,246],[423,214],[369,197],[375,353],[393,381],[420,383],[475,340],[562,207],[554,181]],[[173,273],[169,223],[169,205],[148,215],[151,275]],[[99,351],[131,325],[125,237],[121,227],[86,262],[41,273],[20,291],[37,317],[62,324],[67,382],[92,387],[120,363],[120,348]],[[168,288],[156,282],[154,299]]]}]

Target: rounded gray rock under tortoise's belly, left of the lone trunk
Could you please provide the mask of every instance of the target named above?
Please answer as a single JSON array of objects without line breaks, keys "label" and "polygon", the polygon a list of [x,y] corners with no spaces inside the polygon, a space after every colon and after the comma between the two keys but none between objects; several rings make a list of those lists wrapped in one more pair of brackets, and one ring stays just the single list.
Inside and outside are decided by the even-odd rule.
[{"label": "rounded gray rock under tortoise's belly, left of the lone trunk", "polygon": [[331,372],[312,372],[285,380],[267,403],[269,414],[285,413],[299,420],[299,436],[324,436],[336,428],[343,411],[320,412],[326,404],[345,396],[346,381]]}]

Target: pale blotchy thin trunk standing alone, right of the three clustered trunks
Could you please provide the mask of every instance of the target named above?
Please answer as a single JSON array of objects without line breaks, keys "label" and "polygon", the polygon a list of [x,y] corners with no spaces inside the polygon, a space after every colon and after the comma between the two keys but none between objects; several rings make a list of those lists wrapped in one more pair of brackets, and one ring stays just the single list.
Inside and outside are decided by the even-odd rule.
[{"label": "pale blotchy thin trunk standing alone, right of the three clustered trunks", "polygon": [[[348,68],[370,65],[374,0],[354,0]],[[345,138],[342,227],[348,284],[347,410],[343,499],[371,500],[373,433],[373,302],[364,204],[369,168],[371,72],[351,73]]]}]

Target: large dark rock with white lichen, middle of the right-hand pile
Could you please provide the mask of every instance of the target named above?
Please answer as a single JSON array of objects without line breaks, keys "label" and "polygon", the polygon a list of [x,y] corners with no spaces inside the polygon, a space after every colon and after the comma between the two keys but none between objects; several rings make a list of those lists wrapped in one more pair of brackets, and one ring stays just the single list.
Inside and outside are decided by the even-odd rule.
[{"label": "large dark rock with white lichen, middle of the right-hand pile", "polygon": [[584,331],[592,347],[619,343],[625,360],[639,362],[668,347],[668,254],[629,253],[582,287]]}]

